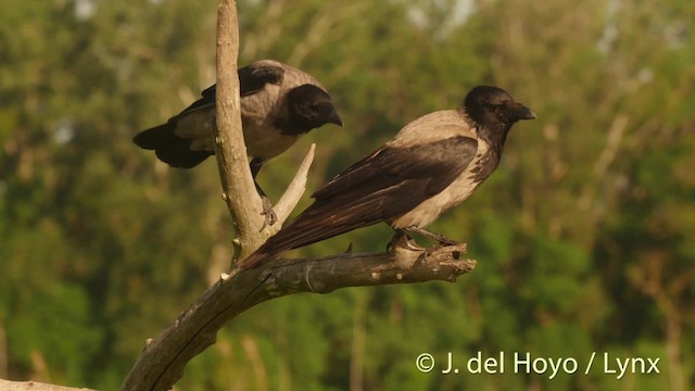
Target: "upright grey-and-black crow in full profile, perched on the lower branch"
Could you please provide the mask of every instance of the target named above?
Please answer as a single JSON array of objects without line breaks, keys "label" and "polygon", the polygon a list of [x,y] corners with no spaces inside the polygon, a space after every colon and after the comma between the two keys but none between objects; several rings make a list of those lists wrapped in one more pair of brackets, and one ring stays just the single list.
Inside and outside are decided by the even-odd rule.
[{"label": "upright grey-and-black crow in full profile, perched on the lower branch", "polygon": [[535,114],[503,89],[476,87],[457,110],[425,115],[391,141],[338,174],[315,202],[270,237],[241,268],[350,230],[388,223],[440,243],[454,241],[424,229],[465,201],[497,167],[511,125]]}]

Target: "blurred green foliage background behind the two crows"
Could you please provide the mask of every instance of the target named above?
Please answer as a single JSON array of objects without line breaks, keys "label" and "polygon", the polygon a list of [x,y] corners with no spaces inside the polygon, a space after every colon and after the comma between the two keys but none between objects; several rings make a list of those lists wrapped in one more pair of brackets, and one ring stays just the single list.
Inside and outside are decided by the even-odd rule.
[{"label": "blurred green foliage background behind the two crows", "polygon": [[[216,0],[3,2],[0,377],[117,389],[144,340],[228,266],[213,160],[172,169],[131,143],[214,83]],[[181,390],[686,390],[695,383],[695,2],[239,0],[240,64],[327,86],[345,127],[313,131],[260,181],[281,193],[311,142],[309,192],[404,124],[507,89],[497,172],[433,225],[478,268],[456,283],[263,304],[194,360]],[[300,204],[300,209],[308,203]],[[303,255],[384,248],[366,228]],[[504,351],[578,374],[421,374]],[[583,375],[592,352],[659,375]],[[463,360],[463,358],[462,358]],[[615,366],[615,364],[614,364]]]}]

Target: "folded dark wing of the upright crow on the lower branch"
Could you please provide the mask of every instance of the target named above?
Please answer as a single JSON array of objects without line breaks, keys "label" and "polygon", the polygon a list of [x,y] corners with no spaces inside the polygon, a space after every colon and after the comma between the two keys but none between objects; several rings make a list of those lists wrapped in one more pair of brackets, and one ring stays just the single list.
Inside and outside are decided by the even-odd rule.
[{"label": "folded dark wing of the upright crow on the lower branch", "polygon": [[413,210],[460,176],[477,148],[477,140],[457,136],[377,150],[316,191],[314,204],[261,247],[244,267]]}]

